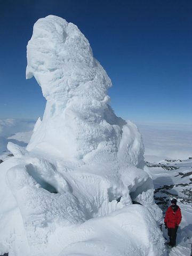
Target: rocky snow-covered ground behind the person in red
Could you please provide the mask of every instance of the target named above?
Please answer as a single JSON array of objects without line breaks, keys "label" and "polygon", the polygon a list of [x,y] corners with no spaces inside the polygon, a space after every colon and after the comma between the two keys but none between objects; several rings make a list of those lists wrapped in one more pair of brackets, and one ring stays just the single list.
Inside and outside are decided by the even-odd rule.
[{"label": "rocky snow-covered ground behind the person in red", "polygon": [[[172,198],[177,198],[181,209],[182,220],[177,232],[177,246],[167,251],[169,256],[190,255],[192,243],[192,158],[186,160],[164,160],[157,163],[147,163],[154,180],[155,201],[163,210],[171,204]],[[169,241],[167,229],[162,226],[164,237]]]}]

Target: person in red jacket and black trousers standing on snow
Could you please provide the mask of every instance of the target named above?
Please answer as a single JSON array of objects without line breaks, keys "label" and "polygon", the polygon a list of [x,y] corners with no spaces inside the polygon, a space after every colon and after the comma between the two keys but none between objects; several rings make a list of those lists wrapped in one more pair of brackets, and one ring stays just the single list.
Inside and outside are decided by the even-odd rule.
[{"label": "person in red jacket and black trousers standing on snow", "polygon": [[168,228],[168,235],[170,237],[168,245],[173,247],[176,244],[177,230],[181,222],[181,209],[177,205],[176,199],[171,200],[171,206],[166,211],[164,221],[165,228]]}]

